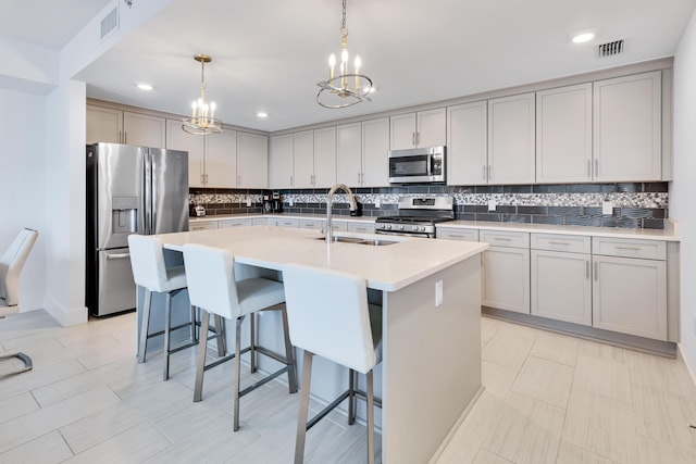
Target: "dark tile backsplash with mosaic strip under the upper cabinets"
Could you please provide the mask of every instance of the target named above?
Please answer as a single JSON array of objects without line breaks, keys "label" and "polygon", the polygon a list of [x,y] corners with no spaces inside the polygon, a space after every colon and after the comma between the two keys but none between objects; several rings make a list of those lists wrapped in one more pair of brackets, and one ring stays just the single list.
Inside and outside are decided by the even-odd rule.
[{"label": "dark tile backsplash with mosaic strip under the upper cabinets", "polygon": [[[283,212],[325,214],[328,189],[279,190]],[[269,190],[190,189],[189,203],[206,208],[208,215],[261,213]],[[597,227],[664,228],[668,218],[667,183],[566,184],[523,186],[409,186],[356,188],[363,216],[397,213],[399,197],[450,195],[455,214],[462,221],[493,221],[582,225]],[[247,206],[247,200],[251,206]],[[495,211],[488,211],[494,200]],[[611,201],[611,215],[601,214],[602,201]],[[375,208],[376,203],[380,208]],[[346,195],[334,197],[334,214],[348,214]]]}]

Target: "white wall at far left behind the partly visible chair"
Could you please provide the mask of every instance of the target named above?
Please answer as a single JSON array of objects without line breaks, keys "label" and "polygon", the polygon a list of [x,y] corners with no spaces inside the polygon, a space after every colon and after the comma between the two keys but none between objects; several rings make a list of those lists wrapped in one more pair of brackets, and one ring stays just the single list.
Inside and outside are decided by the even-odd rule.
[{"label": "white wall at far left behind the partly visible chair", "polygon": [[[39,231],[20,278],[21,311],[44,308],[46,281],[45,98],[0,89],[0,250],[23,227]],[[1,251],[0,251],[1,252]]]}]

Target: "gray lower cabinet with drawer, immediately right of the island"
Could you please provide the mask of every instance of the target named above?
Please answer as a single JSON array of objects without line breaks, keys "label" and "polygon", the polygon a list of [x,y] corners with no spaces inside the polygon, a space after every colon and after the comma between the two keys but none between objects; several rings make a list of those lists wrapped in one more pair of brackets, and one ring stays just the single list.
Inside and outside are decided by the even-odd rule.
[{"label": "gray lower cabinet with drawer, immediately right of the island", "polygon": [[484,252],[484,306],[530,314],[530,234],[480,231],[478,241],[490,244]]}]

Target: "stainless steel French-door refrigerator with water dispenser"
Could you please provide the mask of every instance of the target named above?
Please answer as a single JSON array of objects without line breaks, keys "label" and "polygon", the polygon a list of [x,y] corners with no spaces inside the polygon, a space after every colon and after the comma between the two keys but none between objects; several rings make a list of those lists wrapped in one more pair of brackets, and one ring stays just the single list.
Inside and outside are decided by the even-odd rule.
[{"label": "stainless steel French-door refrigerator with water dispenser", "polygon": [[136,308],[128,235],[188,230],[188,153],[87,146],[85,304],[96,316]]}]

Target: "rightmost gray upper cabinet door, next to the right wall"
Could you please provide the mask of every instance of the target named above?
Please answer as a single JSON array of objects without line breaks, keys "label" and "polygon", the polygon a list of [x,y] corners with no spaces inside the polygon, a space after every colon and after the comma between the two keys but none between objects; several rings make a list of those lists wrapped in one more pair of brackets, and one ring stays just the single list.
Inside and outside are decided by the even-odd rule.
[{"label": "rightmost gray upper cabinet door, next to the right wall", "polygon": [[661,72],[594,83],[594,179],[660,180]]}]

